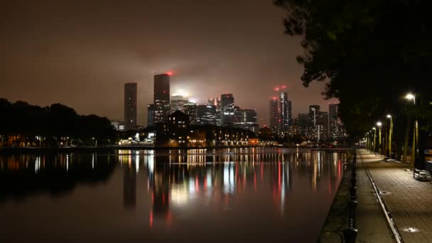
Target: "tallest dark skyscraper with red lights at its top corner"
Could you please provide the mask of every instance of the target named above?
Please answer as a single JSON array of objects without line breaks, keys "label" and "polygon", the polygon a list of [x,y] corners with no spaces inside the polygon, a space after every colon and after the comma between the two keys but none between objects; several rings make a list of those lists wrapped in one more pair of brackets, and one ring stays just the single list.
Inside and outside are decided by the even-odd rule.
[{"label": "tallest dark skyscraper with red lights at its top corner", "polygon": [[170,75],[154,75],[153,104],[155,105],[155,123],[168,120],[170,105]]}]

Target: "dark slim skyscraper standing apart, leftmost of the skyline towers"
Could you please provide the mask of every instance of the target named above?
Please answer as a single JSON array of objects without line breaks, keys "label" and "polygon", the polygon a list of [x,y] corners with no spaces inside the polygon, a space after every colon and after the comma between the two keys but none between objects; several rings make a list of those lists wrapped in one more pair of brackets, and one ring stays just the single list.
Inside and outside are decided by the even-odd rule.
[{"label": "dark slim skyscraper standing apart, leftmost of the skyline towers", "polygon": [[136,129],[136,82],[124,84],[124,129]]}]

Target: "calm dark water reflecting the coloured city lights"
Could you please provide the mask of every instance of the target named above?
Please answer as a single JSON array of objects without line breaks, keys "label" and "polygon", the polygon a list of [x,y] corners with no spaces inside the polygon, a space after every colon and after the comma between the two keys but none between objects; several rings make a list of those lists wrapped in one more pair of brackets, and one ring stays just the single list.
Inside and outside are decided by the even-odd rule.
[{"label": "calm dark water reflecting the coloured city lights", "polygon": [[345,153],[0,155],[0,242],[316,242]]}]

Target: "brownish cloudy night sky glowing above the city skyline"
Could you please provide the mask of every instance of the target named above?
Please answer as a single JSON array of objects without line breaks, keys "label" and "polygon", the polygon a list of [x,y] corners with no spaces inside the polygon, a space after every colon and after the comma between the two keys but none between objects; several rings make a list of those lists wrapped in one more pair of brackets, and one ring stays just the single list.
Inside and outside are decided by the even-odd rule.
[{"label": "brownish cloudy night sky glowing above the city skyline", "polygon": [[[299,38],[284,34],[271,0],[7,1],[0,8],[0,97],[123,118],[124,82],[138,82],[138,121],[153,100],[152,72],[198,103],[232,92],[268,124],[273,87],[288,85],[293,116],[328,103],[303,87]],[[324,107],[323,107],[324,106]]]}]

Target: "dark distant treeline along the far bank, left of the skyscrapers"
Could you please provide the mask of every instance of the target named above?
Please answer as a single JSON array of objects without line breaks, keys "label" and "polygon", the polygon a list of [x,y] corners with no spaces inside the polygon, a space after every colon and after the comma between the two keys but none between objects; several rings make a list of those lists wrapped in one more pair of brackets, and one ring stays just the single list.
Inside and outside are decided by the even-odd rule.
[{"label": "dark distant treeline along the far bank, left of the skyscrapers", "polygon": [[0,98],[0,146],[95,145],[112,142],[106,117],[80,115],[63,104],[39,107]]}]

